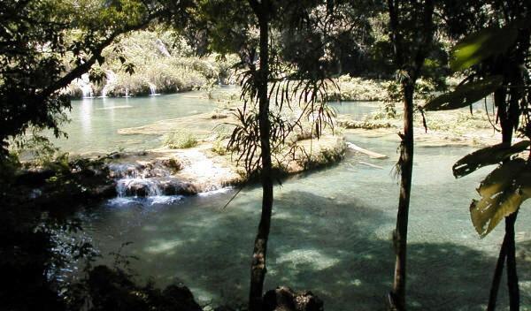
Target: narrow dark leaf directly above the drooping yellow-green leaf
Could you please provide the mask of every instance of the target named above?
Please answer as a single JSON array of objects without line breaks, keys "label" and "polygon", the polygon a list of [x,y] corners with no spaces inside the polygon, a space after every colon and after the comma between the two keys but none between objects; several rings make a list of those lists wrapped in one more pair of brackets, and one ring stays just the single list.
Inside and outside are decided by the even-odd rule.
[{"label": "narrow dark leaf directly above the drooping yellow-green leaf", "polygon": [[512,146],[501,143],[474,151],[470,155],[466,155],[459,159],[459,161],[453,165],[452,171],[454,177],[461,178],[483,166],[500,163],[509,158],[509,156],[526,150],[529,148],[529,145],[531,145],[529,140],[522,140]]}]

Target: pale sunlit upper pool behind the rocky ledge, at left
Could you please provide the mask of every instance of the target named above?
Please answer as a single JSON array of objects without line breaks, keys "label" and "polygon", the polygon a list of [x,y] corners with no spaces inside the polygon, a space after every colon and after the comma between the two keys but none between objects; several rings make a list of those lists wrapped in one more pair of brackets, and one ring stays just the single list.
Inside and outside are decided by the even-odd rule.
[{"label": "pale sunlit upper pool behind the rocky ledge, at left", "polygon": [[119,135],[120,128],[147,125],[161,119],[187,117],[216,107],[204,93],[189,92],[130,98],[87,98],[72,102],[70,122],[63,130],[68,140],[54,140],[74,153],[112,152],[119,148],[143,150],[160,147],[158,136]]}]

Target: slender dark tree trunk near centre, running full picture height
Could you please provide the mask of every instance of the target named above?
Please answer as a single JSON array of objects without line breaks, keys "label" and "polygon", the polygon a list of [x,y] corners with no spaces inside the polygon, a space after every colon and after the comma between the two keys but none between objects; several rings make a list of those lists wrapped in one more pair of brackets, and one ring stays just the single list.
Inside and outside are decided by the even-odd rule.
[{"label": "slender dark tree trunk near centre, running full picture height", "polygon": [[258,17],[260,27],[260,69],[258,71],[258,122],[260,132],[261,147],[261,181],[262,181],[262,214],[258,224],[258,233],[255,239],[250,267],[250,293],[249,310],[259,311],[262,309],[262,292],[264,290],[264,279],[266,277],[266,253],[267,239],[271,227],[271,213],[273,210],[273,176],[271,161],[271,146],[269,141],[269,99],[267,98],[267,78],[269,75],[269,50],[268,50],[268,16],[266,0],[261,4],[256,2],[253,5]]}]

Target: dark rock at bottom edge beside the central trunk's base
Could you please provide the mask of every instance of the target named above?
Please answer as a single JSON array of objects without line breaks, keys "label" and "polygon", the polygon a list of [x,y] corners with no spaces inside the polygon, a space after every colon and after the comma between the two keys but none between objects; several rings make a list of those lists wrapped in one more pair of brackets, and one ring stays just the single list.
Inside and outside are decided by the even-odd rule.
[{"label": "dark rock at bottom edge beside the central trunk's base", "polygon": [[312,292],[293,292],[281,286],[264,295],[265,311],[323,311],[323,301]]}]

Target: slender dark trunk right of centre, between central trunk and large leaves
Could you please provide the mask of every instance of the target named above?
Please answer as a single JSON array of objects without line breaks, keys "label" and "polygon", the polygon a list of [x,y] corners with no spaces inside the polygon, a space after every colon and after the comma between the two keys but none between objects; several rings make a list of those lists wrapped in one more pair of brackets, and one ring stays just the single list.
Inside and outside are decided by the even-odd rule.
[{"label": "slender dark trunk right of centre, between central trunk and large leaves", "polygon": [[412,189],[413,171],[413,91],[414,81],[403,84],[404,88],[404,134],[400,152],[400,197],[398,214],[396,216],[396,230],[394,232],[394,247],[396,254],[395,279],[390,292],[391,307],[405,310],[405,267],[407,253],[407,224],[409,203]]}]

